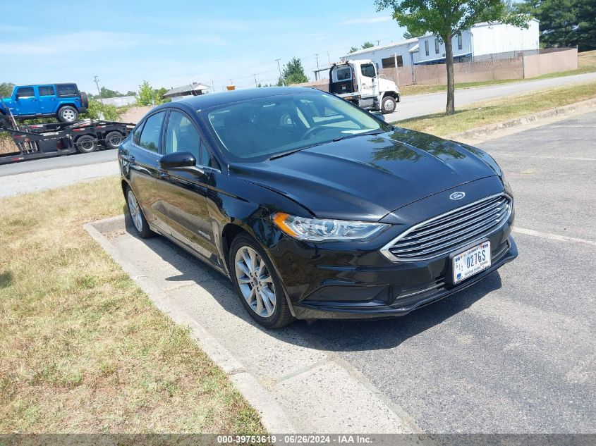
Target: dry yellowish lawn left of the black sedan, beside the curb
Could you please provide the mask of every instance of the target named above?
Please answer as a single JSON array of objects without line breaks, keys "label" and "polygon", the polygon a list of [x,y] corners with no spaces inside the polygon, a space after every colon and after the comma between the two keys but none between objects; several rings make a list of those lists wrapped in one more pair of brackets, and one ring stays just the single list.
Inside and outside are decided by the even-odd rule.
[{"label": "dry yellowish lawn left of the black sedan, beside the curb", "polygon": [[0,201],[0,433],[262,433],[83,230],[123,206],[117,178]]}]

